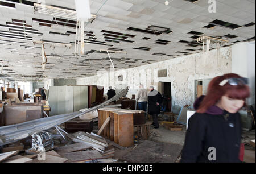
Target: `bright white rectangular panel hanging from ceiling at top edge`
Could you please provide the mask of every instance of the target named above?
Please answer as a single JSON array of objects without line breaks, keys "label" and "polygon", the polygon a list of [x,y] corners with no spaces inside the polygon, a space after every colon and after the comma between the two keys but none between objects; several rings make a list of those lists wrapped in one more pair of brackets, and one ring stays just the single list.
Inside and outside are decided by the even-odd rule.
[{"label": "bright white rectangular panel hanging from ceiling at top edge", "polygon": [[88,19],[92,18],[90,14],[90,2],[89,0],[75,0],[77,20],[83,20],[88,22]]}]

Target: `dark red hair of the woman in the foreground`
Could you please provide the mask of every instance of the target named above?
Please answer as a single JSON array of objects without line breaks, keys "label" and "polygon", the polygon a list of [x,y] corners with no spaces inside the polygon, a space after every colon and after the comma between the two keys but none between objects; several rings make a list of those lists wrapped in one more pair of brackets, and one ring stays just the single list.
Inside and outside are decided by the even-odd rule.
[{"label": "dark red hair of the woman in the foreground", "polygon": [[217,76],[210,81],[207,88],[207,95],[204,97],[197,113],[204,113],[210,106],[216,104],[222,96],[228,96],[233,99],[245,100],[250,96],[250,89],[247,85],[219,85],[221,81],[227,78],[242,78],[238,74],[228,73],[223,76]]}]

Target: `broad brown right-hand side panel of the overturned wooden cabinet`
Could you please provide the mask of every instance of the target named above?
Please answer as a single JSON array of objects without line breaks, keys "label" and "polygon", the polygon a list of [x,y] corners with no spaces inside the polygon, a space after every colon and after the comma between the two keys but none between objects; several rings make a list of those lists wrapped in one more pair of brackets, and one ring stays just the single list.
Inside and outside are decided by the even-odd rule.
[{"label": "broad brown right-hand side panel of the overturned wooden cabinet", "polygon": [[118,113],[118,144],[129,147],[134,145],[133,114]]}]

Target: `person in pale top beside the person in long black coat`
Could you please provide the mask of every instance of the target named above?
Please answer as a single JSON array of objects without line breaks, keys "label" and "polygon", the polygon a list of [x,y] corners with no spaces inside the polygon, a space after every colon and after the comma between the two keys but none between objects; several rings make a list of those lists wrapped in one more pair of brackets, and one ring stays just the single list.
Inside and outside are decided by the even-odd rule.
[{"label": "person in pale top beside the person in long black coat", "polygon": [[142,84],[139,84],[139,90],[136,93],[136,101],[138,102],[139,110],[147,111],[147,89],[144,89]]}]

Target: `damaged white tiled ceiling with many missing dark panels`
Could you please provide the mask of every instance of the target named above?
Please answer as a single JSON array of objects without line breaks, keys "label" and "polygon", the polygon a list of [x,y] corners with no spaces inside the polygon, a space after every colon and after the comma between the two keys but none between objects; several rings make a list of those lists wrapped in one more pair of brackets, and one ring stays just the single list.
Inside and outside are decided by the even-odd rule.
[{"label": "damaged white tiled ceiling with many missing dark panels", "polygon": [[[74,55],[76,19],[39,13],[42,1],[0,0],[0,71],[14,80],[81,78],[201,52],[199,36],[228,40],[228,46],[255,40],[255,1],[90,0],[96,18],[85,23],[84,55]],[[73,0],[46,0],[47,6],[75,11]],[[47,57],[42,69],[42,44]],[[213,49],[212,47],[211,49]]]}]

